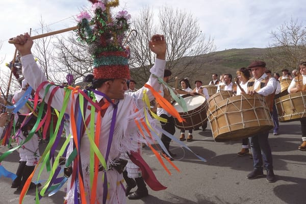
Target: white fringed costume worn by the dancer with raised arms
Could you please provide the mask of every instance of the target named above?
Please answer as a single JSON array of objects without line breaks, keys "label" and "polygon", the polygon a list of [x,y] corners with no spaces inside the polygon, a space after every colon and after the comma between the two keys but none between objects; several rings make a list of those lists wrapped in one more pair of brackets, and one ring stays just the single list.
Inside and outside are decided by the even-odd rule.
[{"label": "white fringed costume worn by the dancer with raised arms", "polygon": [[[28,80],[30,86],[36,90],[38,86],[42,83],[47,81],[43,72],[36,64],[32,54],[23,56],[21,58],[22,61],[22,71],[24,78]],[[164,60],[156,59],[156,64],[150,69],[150,72],[157,75],[157,77],[162,78],[164,74],[164,67],[166,62]],[[153,87],[155,90],[160,89],[160,84],[157,78],[150,76],[148,85]],[[39,95],[41,97],[45,94],[46,85],[40,90]],[[51,91],[54,87],[51,87],[48,93],[45,96],[45,101],[48,101]],[[138,126],[135,123],[135,118],[144,118],[144,105],[142,101],[143,96],[143,89],[141,88],[136,92],[126,93],[123,99],[118,100],[118,111],[113,135],[113,141],[110,148],[110,155],[108,159],[108,165],[115,162],[117,158],[119,158],[122,152],[130,152],[130,151],[137,151],[139,148],[139,144],[143,142],[152,143],[153,141],[150,138],[142,138],[139,135]],[[147,95],[150,100],[154,98],[151,92],[147,89]],[[96,100],[100,101],[103,96],[95,94]],[[76,96],[74,97],[75,100]],[[58,89],[53,97],[51,106],[57,110],[61,110],[63,106],[64,100],[64,89]],[[70,114],[71,104],[75,106],[75,101],[72,101],[72,97],[70,96],[68,106],[66,109],[66,113]],[[90,105],[90,104],[88,104]],[[138,110],[138,111],[137,111]],[[110,105],[104,117],[101,119],[101,130],[100,130],[100,142],[99,142],[99,150],[101,154],[105,157],[111,120],[113,115],[114,108]],[[85,113],[85,118],[90,115],[90,110],[87,110]],[[154,128],[156,125],[156,121],[148,117],[150,120],[150,125]],[[97,121],[97,113],[95,114],[95,122]],[[89,129],[89,125],[88,125]],[[72,127],[70,125],[70,133],[72,133]],[[73,137],[73,136],[72,136]],[[81,161],[82,161],[82,168],[83,168],[83,181],[85,186],[85,193],[86,193],[86,201],[89,203],[91,189],[90,189],[90,178],[89,173],[86,172],[86,167],[89,166],[89,158],[90,158],[90,151],[91,148],[88,135],[85,131],[81,139]],[[103,172],[98,172],[98,182],[97,182],[97,195],[96,195],[96,202],[95,203],[102,203],[103,198],[103,180],[102,175]],[[114,204],[114,203],[126,203],[125,192],[124,189],[121,187],[121,182],[123,181],[122,174],[119,174],[116,170],[109,170],[107,171],[107,178],[108,178],[108,197],[107,203]],[[74,198],[74,184],[71,189],[67,190],[66,200],[67,203],[73,203]]]}]

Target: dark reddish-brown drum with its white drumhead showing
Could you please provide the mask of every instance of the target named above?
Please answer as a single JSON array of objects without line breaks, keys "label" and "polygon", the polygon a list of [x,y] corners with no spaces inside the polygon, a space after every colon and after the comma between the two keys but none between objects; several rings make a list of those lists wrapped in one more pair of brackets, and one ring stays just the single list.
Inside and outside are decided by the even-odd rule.
[{"label": "dark reddish-brown drum with its white drumhead showing", "polygon": [[182,96],[187,105],[187,112],[183,112],[182,107],[176,102],[172,106],[180,113],[185,122],[179,122],[174,118],[175,126],[180,130],[193,130],[207,122],[206,112],[208,110],[208,103],[204,96],[195,94],[186,94]]}]

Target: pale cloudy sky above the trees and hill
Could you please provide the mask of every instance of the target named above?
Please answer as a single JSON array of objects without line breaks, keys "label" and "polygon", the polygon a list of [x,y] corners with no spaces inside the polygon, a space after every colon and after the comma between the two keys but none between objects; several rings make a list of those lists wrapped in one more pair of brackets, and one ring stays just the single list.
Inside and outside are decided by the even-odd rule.
[{"label": "pale cloudy sky above the trees and hill", "polygon": [[[215,40],[217,50],[269,46],[271,31],[291,18],[306,20],[301,1],[293,0],[133,0],[120,1],[117,10],[126,9],[133,16],[144,6],[156,11],[161,6],[180,8],[198,19],[200,28]],[[14,46],[7,43],[10,37],[40,28],[40,19],[52,31],[76,25],[73,16],[89,6],[86,0],[1,0],[0,40],[3,41],[0,59],[11,61]],[[0,65],[1,68],[4,66]]]}]

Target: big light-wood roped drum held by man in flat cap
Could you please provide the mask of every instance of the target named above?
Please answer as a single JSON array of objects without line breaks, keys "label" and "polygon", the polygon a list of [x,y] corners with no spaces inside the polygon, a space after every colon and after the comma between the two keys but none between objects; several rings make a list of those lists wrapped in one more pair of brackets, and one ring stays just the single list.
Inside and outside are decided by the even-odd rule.
[{"label": "big light-wood roped drum held by man in flat cap", "polygon": [[207,117],[215,141],[247,138],[273,127],[269,108],[259,94],[241,94],[210,107]]}]

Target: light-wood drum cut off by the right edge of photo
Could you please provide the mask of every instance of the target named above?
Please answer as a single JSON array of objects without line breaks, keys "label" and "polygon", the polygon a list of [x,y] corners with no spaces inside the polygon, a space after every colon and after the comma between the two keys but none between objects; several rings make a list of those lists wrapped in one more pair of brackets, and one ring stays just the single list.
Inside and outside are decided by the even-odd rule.
[{"label": "light-wood drum cut off by the right edge of photo", "polygon": [[306,91],[275,98],[279,122],[291,122],[306,117]]}]

